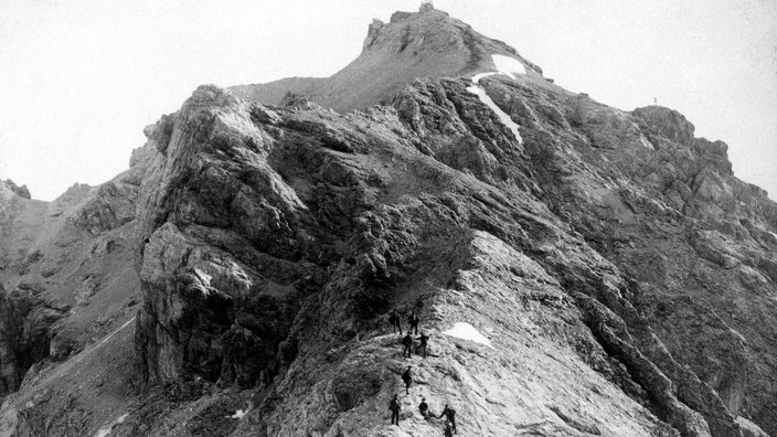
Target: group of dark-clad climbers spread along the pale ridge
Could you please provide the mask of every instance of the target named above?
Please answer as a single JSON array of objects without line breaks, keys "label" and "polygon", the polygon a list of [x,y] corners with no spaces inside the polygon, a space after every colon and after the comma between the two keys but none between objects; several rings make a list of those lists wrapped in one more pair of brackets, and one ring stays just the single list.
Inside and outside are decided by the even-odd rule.
[{"label": "group of dark-clad climbers spread along the pale ridge", "polygon": [[[402,319],[400,318],[400,315],[395,309],[392,310],[391,315],[388,316],[388,322],[392,326],[392,331],[394,333],[398,331],[400,335],[402,335]],[[411,311],[409,316],[407,317],[407,322],[409,324],[409,328],[407,329],[407,333],[402,338],[402,344],[404,347],[402,350],[403,358],[405,355],[407,355],[407,358],[411,358],[411,351],[413,349],[414,340],[413,331],[415,331],[416,335],[418,334],[419,319],[415,311]],[[423,354],[423,356],[426,358],[429,337],[422,331],[421,337],[418,337],[416,340],[419,341],[418,350],[421,351],[418,352],[418,350],[416,350],[416,353]],[[402,373],[402,382],[405,384],[405,394],[411,393],[411,385],[413,384],[413,374],[411,372],[412,369],[413,367],[408,365]],[[394,397],[391,399],[388,404],[388,409],[391,411],[391,425],[400,426],[400,411],[402,409],[402,405],[400,404],[397,394],[394,394]],[[445,416],[445,437],[453,437],[454,434],[458,434],[458,431],[456,430],[456,411],[448,406],[448,404],[445,405],[445,408],[443,409],[443,413],[439,414],[439,416],[435,416],[435,414],[432,413],[432,411],[429,409],[429,405],[426,403],[426,397],[422,397],[421,404],[418,405],[418,411],[426,420],[430,420],[433,418],[443,418],[443,416]]]}]

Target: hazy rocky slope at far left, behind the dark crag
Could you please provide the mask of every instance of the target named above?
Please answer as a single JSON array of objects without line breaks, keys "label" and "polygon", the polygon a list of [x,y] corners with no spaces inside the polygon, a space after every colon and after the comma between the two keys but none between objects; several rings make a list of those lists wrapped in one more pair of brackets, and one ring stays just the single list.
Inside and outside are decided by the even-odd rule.
[{"label": "hazy rocky slope at far left, behind the dark crag", "polygon": [[[32,397],[67,412],[84,380],[66,383],[66,364],[134,319],[140,287],[131,237],[147,150],[113,181],[76,184],[51,203],[0,183],[0,397],[10,394],[0,435],[15,428]],[[46,426],[35,435],[60,428]]]}]

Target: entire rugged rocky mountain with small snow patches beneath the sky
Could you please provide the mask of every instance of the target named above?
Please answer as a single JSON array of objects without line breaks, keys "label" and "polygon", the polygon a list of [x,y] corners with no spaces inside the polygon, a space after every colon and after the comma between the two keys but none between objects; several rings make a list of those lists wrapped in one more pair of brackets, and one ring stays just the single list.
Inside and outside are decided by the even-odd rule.
[{"label": "entire rugged rocky mountain with small snow patches beneath the sky", "polygon": [[777,434],[777,204],[674,110],[427,4],[329,78],[204,85],[146,134],[98,189],[3,194],[3,296],[52,322],[2,358],[0,434],[441,435],[422,396],[460,435]]}]

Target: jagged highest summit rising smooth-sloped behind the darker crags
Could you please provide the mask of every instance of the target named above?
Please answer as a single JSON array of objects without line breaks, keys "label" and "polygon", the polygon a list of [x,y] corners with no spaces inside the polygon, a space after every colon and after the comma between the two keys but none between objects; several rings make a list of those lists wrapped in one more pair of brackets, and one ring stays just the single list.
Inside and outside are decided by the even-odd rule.
[{"label": "jagged highest summit rising smooth-sloped behind the darker crags", "polygon": [[280,105],[290,94],[348,111],[386,99],[417,77],[460,77],[493,71],[493,54],[513,57],[529,74],[542,75],[539,66],[513,47],[424,3],[418,12],[394,12],[388,23],[374,20],[359,57],[330,77],[289,77],[231,89],[262,104]]}]

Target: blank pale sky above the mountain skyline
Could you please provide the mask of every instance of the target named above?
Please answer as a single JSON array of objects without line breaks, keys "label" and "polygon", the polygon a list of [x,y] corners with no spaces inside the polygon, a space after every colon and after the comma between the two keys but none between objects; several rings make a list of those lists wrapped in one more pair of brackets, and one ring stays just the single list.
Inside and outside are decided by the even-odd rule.
[{"label": "blank pale sky above the mountain skyline", "polygon": [[[0,178],[52,200],[125,170],[200,84],[328,76],[416,0],[0,0]],[[777,0],[437,0],[556,84],[680,110],[777,198]]]}]

